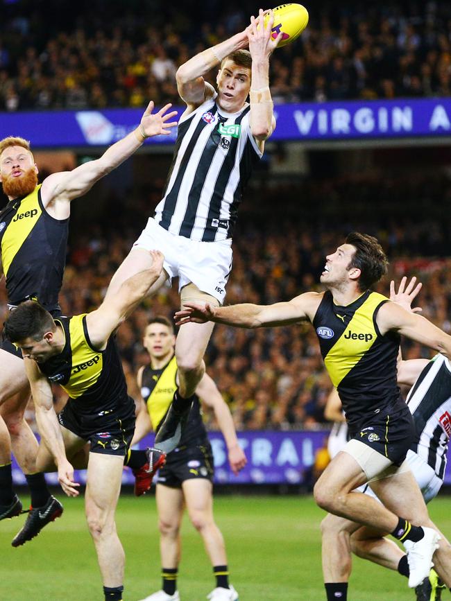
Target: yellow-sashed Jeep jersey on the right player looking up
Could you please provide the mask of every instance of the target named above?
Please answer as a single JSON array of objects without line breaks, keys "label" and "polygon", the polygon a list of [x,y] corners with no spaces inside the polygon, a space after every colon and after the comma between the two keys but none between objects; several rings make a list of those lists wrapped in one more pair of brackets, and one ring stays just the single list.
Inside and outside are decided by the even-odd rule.
[{"label": "yellow-sashed Jeep jersey on the right player looking up", "polygon": [[400,337],[393,332],[382,336],[376,323],[377,311],[388,300],[367,290],[350,305],[338,306],[327,290],[313,320],[325,367],[350,426],[399,397]]}]

